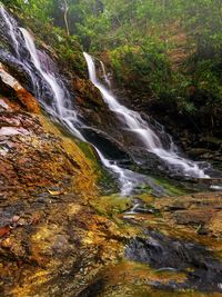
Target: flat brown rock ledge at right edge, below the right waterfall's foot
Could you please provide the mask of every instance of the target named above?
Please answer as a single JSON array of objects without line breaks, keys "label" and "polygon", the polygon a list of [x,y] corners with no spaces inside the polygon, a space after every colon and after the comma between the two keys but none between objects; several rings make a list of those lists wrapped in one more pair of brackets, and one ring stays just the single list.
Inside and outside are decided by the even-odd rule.
[{"label": "flat brown rock ledge at right edge, below the right waterfall's foot", "polygon": [[221,192],[165,198],[157,200],[153,206],[169,224],[183,225],[194,231],[200,226],[209,236],[222,235],[219,224],[222,214]]}]

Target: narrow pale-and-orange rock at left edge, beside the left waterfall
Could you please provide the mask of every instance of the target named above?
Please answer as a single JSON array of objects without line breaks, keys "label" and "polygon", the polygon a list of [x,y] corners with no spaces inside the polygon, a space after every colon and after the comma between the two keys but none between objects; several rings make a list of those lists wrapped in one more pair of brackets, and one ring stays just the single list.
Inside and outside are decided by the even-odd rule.
[{"label": "narrow pale-and-orange rock at left edge, beside the left waterfall", "polygon": [[7,72],[6,68],[2,63],[0,63],[0,79],[1,81],[10,89],[12,89],[22,103],[22,106],[27,109],[27,111],[38,113],[40,111],[39,103],[37,99],[28,92],[18,80],[16,80],[10,73]]}]

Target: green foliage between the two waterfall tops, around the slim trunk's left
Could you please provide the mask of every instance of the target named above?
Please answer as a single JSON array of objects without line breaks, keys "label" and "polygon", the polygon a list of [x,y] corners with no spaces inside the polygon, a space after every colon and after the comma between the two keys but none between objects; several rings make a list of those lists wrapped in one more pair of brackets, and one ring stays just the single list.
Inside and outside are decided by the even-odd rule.
[{"label": "green foliage between the two waterfall tops, around the slim trunk's left", "polygon": [[[80,77],[84,77],[85,61],[82,55],[82,47],[77,36],[67,36],[64,28],[57,27],[53,21],[53,0],[14,0],[2,1],[7,7],[13,9],[22,26],[31,29],[37,38],[36,42],[41,48],[49,44],[59,59],[59,66],[63,71],[74,71]],[[8,4],[10,2],[10,4]],[[62,16],[60,7],[57,7]]]}]

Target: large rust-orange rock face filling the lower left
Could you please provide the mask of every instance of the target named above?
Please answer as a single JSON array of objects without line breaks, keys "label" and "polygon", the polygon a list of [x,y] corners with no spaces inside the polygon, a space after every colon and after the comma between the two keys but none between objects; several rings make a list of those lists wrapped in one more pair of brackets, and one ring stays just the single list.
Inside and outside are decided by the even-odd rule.
[{"label": "large rust-orange rock face filling the lower left", "polygon": [[77,296],[118,258],[117,226],[90,206],[97,179],[49,119],[0,97],[1,296]]}]

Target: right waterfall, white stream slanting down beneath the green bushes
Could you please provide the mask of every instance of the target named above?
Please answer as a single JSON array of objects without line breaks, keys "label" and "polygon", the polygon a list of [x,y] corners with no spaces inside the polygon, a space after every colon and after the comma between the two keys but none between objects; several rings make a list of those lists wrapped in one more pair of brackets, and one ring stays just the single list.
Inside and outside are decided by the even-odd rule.
[{"label": "right waterfall, white stream slanting down beneath the green bushes", "polygon": [[180,171],[183,176],[209,178],[209,176],[204,174],[204,170],[201,169],[196,162],[180,157],[176,154],[175,146],[173,143],[171,143],[171,148],[169,150],[164,149],[161,139],[149,127],[148,122],[145,122],[138,112],[122,106],[111,93],[111,91],[109,91],[98,80],[93,58],[87,52],[83,55],[88,65],[90,80],[101,91],[102,97],[109,108],[115,112],[123,125],[127,125],[130,131],[134,132],[148,151],[155,154],[160,159],[162,159],[169,166],[169,169]]}]

